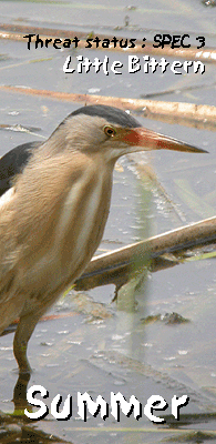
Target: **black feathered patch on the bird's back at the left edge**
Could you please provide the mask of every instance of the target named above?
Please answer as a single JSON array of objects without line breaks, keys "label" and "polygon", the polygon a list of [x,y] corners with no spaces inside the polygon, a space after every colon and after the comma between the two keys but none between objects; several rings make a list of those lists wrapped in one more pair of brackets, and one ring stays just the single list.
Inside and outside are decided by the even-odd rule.
[{"label": "black feathered patch on the bird's back at the left edge", "polygon": [[12,186],[12,179],[23,170],[32,151],[40,144],[41,142],[23,143],[0,159],[0,196]]}]

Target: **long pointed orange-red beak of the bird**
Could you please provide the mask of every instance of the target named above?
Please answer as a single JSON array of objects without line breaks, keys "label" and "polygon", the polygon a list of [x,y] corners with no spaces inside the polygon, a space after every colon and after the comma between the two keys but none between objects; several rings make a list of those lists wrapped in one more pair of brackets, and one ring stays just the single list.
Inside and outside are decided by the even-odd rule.
[{"label": "long pointed orange-red beak of the bird", "polygon": [[176,150],[186,152],[207,153],[208,151],[188,145],[185,142],[147,130],[146,128],[124,129],[120,140],[128,145],[142,147],[145,150]]}]

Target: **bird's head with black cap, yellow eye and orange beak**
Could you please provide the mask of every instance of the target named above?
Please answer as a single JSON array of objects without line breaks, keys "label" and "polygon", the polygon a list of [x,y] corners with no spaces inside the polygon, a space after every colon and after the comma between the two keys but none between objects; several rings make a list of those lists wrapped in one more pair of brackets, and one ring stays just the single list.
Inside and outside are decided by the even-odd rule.
[{"label": "bird's head with black cap, yellow eye and orange beak", "polygon": [[102,104],[72,112],[51,135],[52,143],[69,150],[104,154],[115,161],[123,154],[148,150],[206,152],[176,139],[143,128],[131,114]]}]

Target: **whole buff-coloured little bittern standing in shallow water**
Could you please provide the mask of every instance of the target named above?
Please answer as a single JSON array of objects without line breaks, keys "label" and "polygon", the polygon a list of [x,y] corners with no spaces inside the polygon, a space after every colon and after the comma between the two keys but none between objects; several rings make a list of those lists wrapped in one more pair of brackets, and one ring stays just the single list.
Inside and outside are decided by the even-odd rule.
[{"label": "whole buff-coloured little bittern standing in shallow water", "polygon": [[72,112],[44,143],[19,145],[0,160],[0,333],[19,317],[20,373],[30,372],[27,345],[39,319],[100,244],[115,161],[158,149],[204,152],[99,104]]}]

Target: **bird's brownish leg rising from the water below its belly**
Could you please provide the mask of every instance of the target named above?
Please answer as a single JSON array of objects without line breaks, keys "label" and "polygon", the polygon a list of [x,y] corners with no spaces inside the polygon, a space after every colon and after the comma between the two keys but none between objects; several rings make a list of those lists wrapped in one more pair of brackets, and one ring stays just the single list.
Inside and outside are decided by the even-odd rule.
[{"label": "bird's brownish leg rising from the water below its belly", "polygon": [[31,373],[31,366],[27,359],[28,342],[34,331],[34,327],[41,317],[43,311],[28,313],[21,315],[14,340],[13,340],[13,353],[19,365],[19,373]]}]

